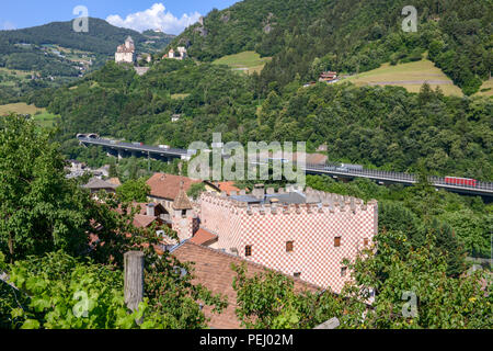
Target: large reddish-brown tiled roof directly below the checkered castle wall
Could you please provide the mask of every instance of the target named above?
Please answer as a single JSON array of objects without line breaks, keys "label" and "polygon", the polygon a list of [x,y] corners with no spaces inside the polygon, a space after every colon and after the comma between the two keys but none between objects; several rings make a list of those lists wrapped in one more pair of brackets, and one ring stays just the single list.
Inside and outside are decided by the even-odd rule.
[{"label": "large reddish-brown tiled roof directly below the checkered castle wall", "polygon": [[[267,269],[261,264],[256,264],[239,257],[234,257],[218,250],[214,250],[204,246],[185,241],[176,248],[172,254],[182,262],[195,262],[194,281],[207,287],[214,294],[222,294],[228,296],[228,308],[220,315],[213,314],[209,306],[204,306],[204,314],[210,318],[209,327],[216,329],[239,329],[240,321],[234,314],[237,305],[237,293],[232,287],[232,281],[236,273],[231,270],[231,263],[246,263],[248,276],[265,272]],[[297,292],[308,290],[311,292],[322,291],[321,287],[289,276],[295,281],[295,290]]]}]

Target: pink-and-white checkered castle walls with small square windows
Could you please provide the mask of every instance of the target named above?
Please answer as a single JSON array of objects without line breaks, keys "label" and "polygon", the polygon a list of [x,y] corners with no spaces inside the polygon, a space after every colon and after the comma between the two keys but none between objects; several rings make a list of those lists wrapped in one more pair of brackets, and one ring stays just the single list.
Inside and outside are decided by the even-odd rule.
[{"label": "pink-and-white checkered castle walls with small square windows", "polygon": [[[312,192],[321,201],[301,205],[248,205],[225,195],[204,193],[199,200],[200,225],[218,235],[217,247],[226,252],[294,275],[339,293],[344,259],[353,260],[378,231],[378,204]],[[335,247],[335,238],[341,238]],[[294,242],[287,252],[286,244]],[[252,256],[245,257],[251,246]]]}]

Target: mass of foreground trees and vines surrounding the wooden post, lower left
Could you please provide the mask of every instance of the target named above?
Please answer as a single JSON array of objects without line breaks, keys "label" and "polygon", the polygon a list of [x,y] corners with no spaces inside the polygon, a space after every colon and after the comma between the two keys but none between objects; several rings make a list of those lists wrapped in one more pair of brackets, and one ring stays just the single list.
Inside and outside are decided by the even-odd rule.
[{"label": "mass of foreground trees and vines surrounding the wooden post, lower left", "polygon": [[[2,326],[137,328],[135,319],[146,313],[142,328],[205,328],[198,301],[217,313],[227,306],[222,296],[192,284],[190,264],[169,252],[158,254],[161,237],[156,225],[134,227],[136,208],[127,210],[113,194],[103,193],[95,202],[66,179],[64,160],[49,135],[23,117],[1,122],[0,271],[20,290],[0,282]],[[168,227],[163,230],[176,236]],[[146,299],[129,315],[122,296],[123,256],[135,249],[146,254]],[[73,313],[79,292],[87,293],[89,315],[83,320]]]}]

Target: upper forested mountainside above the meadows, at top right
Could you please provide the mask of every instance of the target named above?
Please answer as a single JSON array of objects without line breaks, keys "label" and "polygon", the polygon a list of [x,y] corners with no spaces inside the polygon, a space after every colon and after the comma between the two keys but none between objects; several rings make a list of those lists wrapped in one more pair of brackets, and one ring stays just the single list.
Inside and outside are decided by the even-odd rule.
[{"label": "upper forested mountainside above the meadows, at top right", "polygon": [[173,45],[190,46],[199,60],[255,49],[274,56],[263,89],[296,75],[312,80],[323,70],[347,73],[380,64],[429,58],[472,94],[492,65],[493,7],[489,0],[419,0],[416,33],[402,31],[404,0],[245,0],[214,10]]}]

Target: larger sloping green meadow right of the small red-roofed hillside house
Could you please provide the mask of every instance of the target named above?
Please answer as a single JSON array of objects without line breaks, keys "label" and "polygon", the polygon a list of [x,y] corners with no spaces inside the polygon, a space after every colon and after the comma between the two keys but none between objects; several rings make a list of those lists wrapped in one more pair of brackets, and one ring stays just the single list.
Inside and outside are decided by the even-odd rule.
[{"label": "larger sloping green meadow right of the small red-roofed hillside house", "polygon": [[446,95],[463,95],[460,88],[455,86],[439,68],[427,59],[395,66],[383,64],[380,68],[348,77],[342,81],[345,80],[352,81],[356,86],[400,86],[410,92],[419,92],[426,81],[432,89],[439,86]]}]

